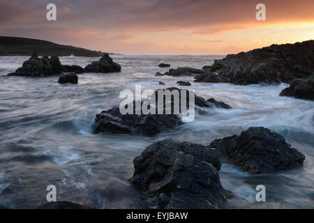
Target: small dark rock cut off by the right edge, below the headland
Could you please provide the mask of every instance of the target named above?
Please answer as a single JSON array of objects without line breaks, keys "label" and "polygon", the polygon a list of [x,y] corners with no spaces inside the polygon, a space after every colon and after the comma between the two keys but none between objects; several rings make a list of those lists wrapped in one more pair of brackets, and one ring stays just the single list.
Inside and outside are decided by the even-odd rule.
[{"label": "small dark rock cut off by the right edge, below the headland", "polygon": [[294,79],[290,87],[281,91],[281,96],[314,100],[314,75],[308,79]]}]

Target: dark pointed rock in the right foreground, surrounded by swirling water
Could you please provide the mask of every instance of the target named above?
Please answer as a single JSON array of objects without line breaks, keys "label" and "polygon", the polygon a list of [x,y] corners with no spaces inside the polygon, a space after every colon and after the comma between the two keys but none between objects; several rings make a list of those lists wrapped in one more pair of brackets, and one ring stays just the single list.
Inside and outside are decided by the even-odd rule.
[{"label": "dark pointed rock in the right foreground, surrounded by swirling water", "polygon": [[249,174],[265,174],[301,165],[305,157],[285,139],[267,128],[251,127],[239,136],[216,139],[210,144]]}]

